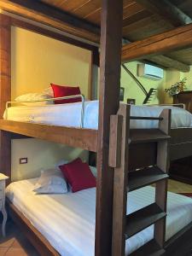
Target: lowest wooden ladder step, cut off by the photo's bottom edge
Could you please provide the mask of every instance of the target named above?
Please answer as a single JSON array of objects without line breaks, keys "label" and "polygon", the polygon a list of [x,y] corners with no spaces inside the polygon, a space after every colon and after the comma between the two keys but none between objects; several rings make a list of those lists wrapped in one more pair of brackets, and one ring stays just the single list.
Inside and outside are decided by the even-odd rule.
[{"label": "lowest wooden ladder step, cut off by the photo's bottom edge", "polygon": [[160,256],[166,253],[165,249],[161,248],[159,244],[153,239],[148,241],[143,247],[137,249],[137,251],[130,254],[130,256]]}]

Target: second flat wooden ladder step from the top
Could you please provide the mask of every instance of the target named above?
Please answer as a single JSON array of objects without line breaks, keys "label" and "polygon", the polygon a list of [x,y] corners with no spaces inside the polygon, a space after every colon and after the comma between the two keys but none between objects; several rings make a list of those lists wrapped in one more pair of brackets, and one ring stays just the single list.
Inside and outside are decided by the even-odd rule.
[{"label": "second flat wooden ladder step from the top", "polygon": [[140,189],[152,183],[168,178],[168,174],[161,171],[159,167],[147,167],[140,171],[129,172],[128,191]]}]

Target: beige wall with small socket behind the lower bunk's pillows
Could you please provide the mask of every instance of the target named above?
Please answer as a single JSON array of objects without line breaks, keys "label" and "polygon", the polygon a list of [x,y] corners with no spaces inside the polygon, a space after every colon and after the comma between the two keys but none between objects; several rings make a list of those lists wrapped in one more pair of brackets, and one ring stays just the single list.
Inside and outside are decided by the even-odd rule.
[{"label": "beige wall with small socket behind the lower bunk's pillows", "polygon": [[[19,159],[27,157],[28,163],[20,165]],[[12,141],[11,171],[12,181],[38,177],[40,169],[55,167],[60,160],[73,160],[80,157],[88,160],[88,152],[80,148],[70,148],[62,144],[38,139]]]}]

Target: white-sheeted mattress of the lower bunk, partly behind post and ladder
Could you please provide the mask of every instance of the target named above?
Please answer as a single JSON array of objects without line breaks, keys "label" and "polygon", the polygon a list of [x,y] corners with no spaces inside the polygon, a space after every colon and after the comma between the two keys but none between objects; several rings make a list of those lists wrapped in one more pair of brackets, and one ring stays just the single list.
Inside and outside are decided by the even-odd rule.
[{"label": "white-sheeted mattress of the lower bunk, partly behind post and ladder", "polygon": [[[6,195],[20,212],[63,256],[93,256],[95,242],[96,189],[65,195],[35,195],[37,179],[9,184]],[[128,195],[131,213],[154,202],[154,188],[145,187]],[[192,199],[168,193],[166,240],[192,221]],[[153,226],[126,241],[126,255],[153,239]]]}]

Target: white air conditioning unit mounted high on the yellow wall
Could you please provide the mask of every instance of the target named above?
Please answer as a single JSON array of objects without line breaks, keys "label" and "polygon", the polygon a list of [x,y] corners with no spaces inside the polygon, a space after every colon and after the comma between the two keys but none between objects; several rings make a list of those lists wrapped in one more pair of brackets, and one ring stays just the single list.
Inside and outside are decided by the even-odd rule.
[{"label": "white air conditioning unit mounted high on the yellow wall", "polygon": [[163,69],[149,64],[137,64],[137,75],[148,79],[163,79]]}]

